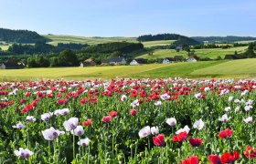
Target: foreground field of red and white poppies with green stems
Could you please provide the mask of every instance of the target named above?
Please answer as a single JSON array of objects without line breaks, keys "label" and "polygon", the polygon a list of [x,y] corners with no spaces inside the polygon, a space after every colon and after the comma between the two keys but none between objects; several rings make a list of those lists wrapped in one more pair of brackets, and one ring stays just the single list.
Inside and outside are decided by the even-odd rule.
[{"label": "foreground field of red and white poppies with green stems", "polygon": [[0,83],[0,163],[256,163],[256,80]]}]

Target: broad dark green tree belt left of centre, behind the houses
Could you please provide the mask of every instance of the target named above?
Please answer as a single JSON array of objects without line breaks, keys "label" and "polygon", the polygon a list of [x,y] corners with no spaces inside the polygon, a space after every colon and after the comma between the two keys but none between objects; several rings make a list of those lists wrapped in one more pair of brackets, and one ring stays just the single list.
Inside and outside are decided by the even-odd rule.
[{"label": "broad dark green tree belt left of centre, behind the houses", "polygon": [[[126,56],[137,50],[143,50],[141,43],[114,42],[99,45],[59,44],[51,46],[45,43],[35,45],[14,44],[7,51],[10,55],[1,56],[0,59],[18,58],[28,67],[77,67],[80,61],[88,58],[101,64],[102,59],[112,56]],[[5,54],[4,54],[5,55]]]}]

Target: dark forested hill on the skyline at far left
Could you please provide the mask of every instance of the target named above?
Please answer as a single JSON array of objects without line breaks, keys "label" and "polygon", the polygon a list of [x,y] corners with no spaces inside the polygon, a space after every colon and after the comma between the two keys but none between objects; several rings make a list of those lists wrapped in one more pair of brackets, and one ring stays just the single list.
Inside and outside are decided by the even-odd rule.
[{"label": "dark forested hill on the skyline at far left", "polygon": [[37,32],[28,30],[11,30],[0,28],[0,41],[34,44],[36,42],[45,43],[47,39],[44,36],[40,36]]}]

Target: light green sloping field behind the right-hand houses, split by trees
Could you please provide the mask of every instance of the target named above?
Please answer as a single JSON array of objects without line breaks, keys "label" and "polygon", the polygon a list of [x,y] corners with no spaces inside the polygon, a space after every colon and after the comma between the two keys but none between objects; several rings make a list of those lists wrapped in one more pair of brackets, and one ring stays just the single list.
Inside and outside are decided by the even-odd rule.
[{"label": "light green sloping field behind the right-hand houses, split by trees", "polygon": [[[208,48],[208,49],[194,49],[195,55],[205,58],[209,57],[211,59],[215,59],[218,56],[221,56],[224,58],[226,55],[232,55],[235,53],[235,51],[238,52],[238,54],[241,54],[245,51],[247,46],[239,46],[239,47],[231,47],[228,49],[222,49],[222,48]],[[193,49],[191,49],[193,50]],[[165,57],[173,57],[173,56],[187,56],[186,51],[180,51],[176,52],[175,49],[156,49],[153,51],[153,56],[149,56],[148,53],[140,54],[139,56],[136,56],[136,58],[146,58],[146,59],[155,59],[155,58],[165,58]]]}]

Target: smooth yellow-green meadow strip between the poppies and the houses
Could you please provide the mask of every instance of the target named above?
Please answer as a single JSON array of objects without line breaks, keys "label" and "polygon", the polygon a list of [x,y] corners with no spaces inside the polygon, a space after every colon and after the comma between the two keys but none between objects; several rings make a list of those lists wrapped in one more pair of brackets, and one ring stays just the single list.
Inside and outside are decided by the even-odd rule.
[{"label": "smooth yellow-green meadow strip between the poppies and the houses", "polygon": [[255,77],[256,59],[206,61],[197,63],[153,64],[114,67],[58,67],[0,70],[1,81],[35,79],[85,79],[114,77]]}]

